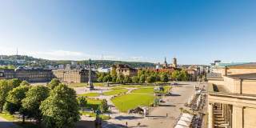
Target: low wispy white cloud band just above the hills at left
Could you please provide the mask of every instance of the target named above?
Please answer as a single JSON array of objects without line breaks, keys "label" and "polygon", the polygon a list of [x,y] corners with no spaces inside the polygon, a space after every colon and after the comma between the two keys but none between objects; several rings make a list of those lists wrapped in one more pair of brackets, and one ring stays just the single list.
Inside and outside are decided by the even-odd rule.
[{"label": "low wispy white cloud band just above the hills at left", "polygon": [[[13,55],[16,54],[16,48],[0,47],[0,54]],[[86,59],[103,59],[103,60],[117,60],[117,61],[131,61],[131,62],[148,62],[148,58],[142,56],[118,56],[114,54],[86,54],[81,51],[71,50],[22,50],[18,54],[29,55],[35,58],[45,58],[51,60],[86,60]]]}]

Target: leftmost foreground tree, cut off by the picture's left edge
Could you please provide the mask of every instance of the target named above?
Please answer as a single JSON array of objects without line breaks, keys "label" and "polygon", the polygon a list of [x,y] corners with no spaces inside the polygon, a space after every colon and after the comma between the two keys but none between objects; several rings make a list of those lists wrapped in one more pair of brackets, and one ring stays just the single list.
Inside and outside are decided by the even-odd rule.
[{"label": "leftmost foreground tree, cut off by the picture's left edge", "polygon": [[6,103],[6,98],[13,86],[8,84],[7,80],[0,80],[0,112],[2,113],[3,106]]}]

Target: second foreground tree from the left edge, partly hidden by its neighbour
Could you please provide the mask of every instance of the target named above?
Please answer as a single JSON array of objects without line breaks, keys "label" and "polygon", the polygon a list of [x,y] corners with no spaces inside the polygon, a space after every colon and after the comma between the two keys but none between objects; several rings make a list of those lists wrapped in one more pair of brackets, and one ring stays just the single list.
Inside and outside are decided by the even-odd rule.
[{"label": "second foreground tree from the left edge, partly hidden by its neighbour", "polygon": [[10,114],[19,112],[22,114],[22,122],[25,122],[27,112],[22,108],[22,99],[26,98],[26,92],[30,86],[18,86],[11,90],[6,98],[4,109]]}]

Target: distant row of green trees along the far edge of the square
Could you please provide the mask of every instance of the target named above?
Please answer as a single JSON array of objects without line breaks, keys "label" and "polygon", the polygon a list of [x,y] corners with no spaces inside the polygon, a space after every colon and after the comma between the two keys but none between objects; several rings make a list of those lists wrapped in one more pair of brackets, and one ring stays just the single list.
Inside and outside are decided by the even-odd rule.
[{"label": "distant row of green trees along the far edge of the square", "polygon": [[153,83],[168,82],[170,79],[176,81],[186,81],[188,75],[186,70],[174,70],[174,72],[156,72],[154,70],[138,70],[136,76],[123,76],[116,74],[115,70],[111,73],[98,73],[98,82],[117,82],[117,83]]}]

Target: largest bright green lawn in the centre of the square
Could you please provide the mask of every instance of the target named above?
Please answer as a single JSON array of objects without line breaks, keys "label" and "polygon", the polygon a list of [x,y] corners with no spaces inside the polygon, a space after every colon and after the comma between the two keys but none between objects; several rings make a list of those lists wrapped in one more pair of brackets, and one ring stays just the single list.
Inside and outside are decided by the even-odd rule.
[{"label": "largest bright green lawn in the centre of the square", "polygon": [[112,102],[122,112],[133,109],[137,106],[149,106],[154,102],[153,94],[124,94],[112,98]]}]

